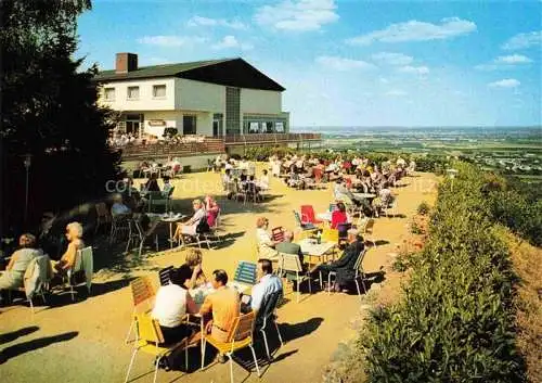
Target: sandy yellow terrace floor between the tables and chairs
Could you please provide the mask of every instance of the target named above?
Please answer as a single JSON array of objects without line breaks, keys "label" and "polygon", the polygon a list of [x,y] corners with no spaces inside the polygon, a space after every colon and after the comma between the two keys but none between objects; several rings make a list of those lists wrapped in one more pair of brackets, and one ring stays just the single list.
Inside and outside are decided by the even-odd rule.
[{"label": "sandy yellow terrace floor between the tables and chairs", "polygon": [[[408,235],[409,217],[422,201],[435,194],[433,175],[420,174],[405,178],[403,183],[405,187],[396,189],[401,217],[384,217],[376,221],[375,238],[386,244],[367,252],[363,266],[369,273],[378,272],[390,263],[388,253],[393,252],[396,244]],[[219,175],[212,173],[185,175],[175,180],[175,184],[176,206],[182,212],[186,212],[192,199],[203,196],[204,190],[221,195]],[[331,187],[328,190],[297,191],[288,189],[282,180],[273,179],[271,188],[270,201],[256,206],[220,201],[224,228],[234,235],[219,250],[204,250],[203,266],[208,275],[216,268],[223,268],[231,276],[237,260],[256,260],[254,231],[257,216],[266,215],[271,228],[294,228],[294,208],[310,203],[317,212],[322,212],[332,197]],[[93,293],[88,298],[81,297],[74,304],[67,295],[60,301],[51,299],[55,302],[54,307],[38,305],[34,318],[26,306],[0,308],[1,381],[124,381],[131,353],[131,344],[124,343],[132,310],[127,283],[137,276],[155,276],[160,267],[181,265],[184,253],[167,251],[150,254],[142,260],[125,256],[120,266],[119,256],[105,254],[117,263],[112,261],[114,266],[96,273]],[[107,260],[101,259],[96,264],[106,265]],[[373,284],[372,289],[375,286]],[[287,302],[279,309],[279,323],[286,344],[275,352],[272,365],[262,366],[261,380],[255,372],[249,374],[234,365],[235,382],[308,383],[322,380],[323,367],[330,362],[338,343],[354,336],[350,321],[360,310],[360,301],[357,295],[328,295],[314,290],[317,292],[312,295],[306,292],[300,303],[295,302],[293,294],[285,295]],[[271,337],[274,340],[274,335]],[[272,343],[276,345],[275,341]],[[257,346],[257,353],[263,360],[261,345]],[[240,356],[246,361],[250,360],[249,352]],[[228,365],[211,365],[205,371],[199,371],[197,348],[190,354],[190,358],[192,372],[160,370],[157,381],[229,381]],[[151,356],[140,354],[131,373],[132,380],[152,381],[152,361]]]}]

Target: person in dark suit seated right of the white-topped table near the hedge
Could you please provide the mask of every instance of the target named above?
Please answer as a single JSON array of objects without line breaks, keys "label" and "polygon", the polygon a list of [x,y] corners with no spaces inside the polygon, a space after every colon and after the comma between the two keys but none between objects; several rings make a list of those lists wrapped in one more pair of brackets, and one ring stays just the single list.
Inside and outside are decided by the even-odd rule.
[{"label": "person in dark suit seated right of the white-topped table near the hedge", "polygon": [[335,284],[333,286],[328,286],[330,290],[335,290],[340,292],[341,288],[345,286],[349,281],[351,281],[356,275],[353,266],[356,265],[356,260],[358,260],[358,256],[363,251],[363,238],[361,234],[354,230],[348,230],[348,245],[343,253],[343,256],[330,264],[320,265],[318,270],[322,271],[323,280],[327,280],[327,275],[330,271],[335,271]]}]

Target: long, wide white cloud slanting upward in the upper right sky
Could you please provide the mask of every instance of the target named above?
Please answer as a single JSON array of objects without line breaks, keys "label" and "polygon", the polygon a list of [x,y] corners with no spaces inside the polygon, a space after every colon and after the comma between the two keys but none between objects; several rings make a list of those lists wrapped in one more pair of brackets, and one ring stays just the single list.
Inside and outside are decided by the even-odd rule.
[{"label": "long, wide white cloud slanting upward in the upper right sky", "polygon": [[411,20],[405,23],[391,24],[385,29],[375,30],[346,40],[354,46],[367,46],[376,41],[428,41],[444,40],[476,30],[476,24],[459,17],[442,18],[441,24],[431,24]]}]

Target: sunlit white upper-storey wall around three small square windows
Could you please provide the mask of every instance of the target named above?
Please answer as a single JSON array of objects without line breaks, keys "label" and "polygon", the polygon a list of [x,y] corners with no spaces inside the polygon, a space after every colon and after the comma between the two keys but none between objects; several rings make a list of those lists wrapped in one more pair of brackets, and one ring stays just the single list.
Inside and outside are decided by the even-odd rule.
[{"label": "sunlit white upper-storey wall around three small square windows", "polygon": [[[166,97],[153,97],[153,86],[165,85]],[[139,99],[128,99],[128,87],[139,87]],[[153,78],[131,81],[112,81],[102,84],[99,103],[115,111],[173,111],[176,82],[173,78]],[[105,100],[105,88],[115,88],[115,100]]]}]

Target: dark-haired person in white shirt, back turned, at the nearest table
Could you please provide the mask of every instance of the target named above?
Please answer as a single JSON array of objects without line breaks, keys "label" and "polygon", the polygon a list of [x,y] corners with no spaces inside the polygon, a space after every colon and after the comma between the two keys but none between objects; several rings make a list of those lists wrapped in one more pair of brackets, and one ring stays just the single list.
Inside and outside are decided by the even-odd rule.
[{"label": "dark-haired person in white shirt, back turned, at the nearest table", "polygon": [[190,329],[182,323],[186,312],[197,314],[198,309],[182,284],[181,272],[172,269],[169,272],[169,284],[158,289],[154,308],[151,312],[151,316],[157,319],[160,324],[164,343],[180,342],[190,335]]}]

